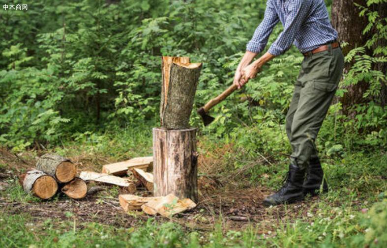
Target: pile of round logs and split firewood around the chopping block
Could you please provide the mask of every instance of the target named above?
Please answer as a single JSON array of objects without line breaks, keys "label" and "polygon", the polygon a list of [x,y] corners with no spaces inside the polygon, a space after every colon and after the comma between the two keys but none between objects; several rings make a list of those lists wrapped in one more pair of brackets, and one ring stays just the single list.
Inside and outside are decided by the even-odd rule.
[{"label": "pile of round logs and split firewood around the chopping block", "polygon": [[188,198],[179,199],[174,194],[157,197],[135,195],[138,188],[153,193],[153,157],[139,157],[119,163],[104,165],[101,173],[81,171],[71,160],[56,154],[45,154],[36,163],[36,168],[19,177],[19,182],[27,193],[41,199],[49,199],[58,192],[73,199],[82,199],[87,194],[88,182],[119,186],[129,194],[119,195],[119,204],[125,212],[144,211],[149,215],[160,214],[170,217],[196,207]]}]

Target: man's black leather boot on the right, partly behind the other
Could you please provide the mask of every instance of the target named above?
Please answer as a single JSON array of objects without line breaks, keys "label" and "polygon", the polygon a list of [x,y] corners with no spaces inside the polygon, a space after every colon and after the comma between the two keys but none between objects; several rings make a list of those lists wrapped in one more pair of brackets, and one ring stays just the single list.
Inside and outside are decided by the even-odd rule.
[{"label": "man's black leather boot on the right, partly behind the other", "polygon": [[323,183],[323,193],[328,192],[328,184],[324,179],[324,171],[321,167],[320,160],[318,158],[309,161],[309,166],[306,169],[306,177],[303,184],[304,195],[311,194],[316,195],[320,193],[320,187]]}]

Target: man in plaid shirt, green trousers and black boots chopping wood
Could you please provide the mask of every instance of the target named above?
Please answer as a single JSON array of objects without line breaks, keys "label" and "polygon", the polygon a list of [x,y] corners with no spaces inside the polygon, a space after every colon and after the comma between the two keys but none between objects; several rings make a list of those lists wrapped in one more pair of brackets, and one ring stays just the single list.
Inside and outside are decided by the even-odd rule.
[{"label": "man in plaid shirt, green trousers and black boots chopping wood", "polygon": [[[251,62],[265,49],[279,21],[284,30],[268,52]],[[328,190],[315,139],[340,81],[344,56],[324,0],[268,0],[264,19],[238,65],[234,84],[240,88],[248,83],[265,63],[285,53],[292,44],[304,59],[286,115],[291,162],[282,188],[264,200],[265,206],[302,200],[307,193],[318,193],[321,186],[324,192]]]}]

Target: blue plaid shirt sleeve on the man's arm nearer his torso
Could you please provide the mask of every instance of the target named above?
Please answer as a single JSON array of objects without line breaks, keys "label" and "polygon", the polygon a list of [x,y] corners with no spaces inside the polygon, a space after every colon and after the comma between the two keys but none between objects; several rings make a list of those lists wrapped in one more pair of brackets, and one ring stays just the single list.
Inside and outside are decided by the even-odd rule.
[{"label": "blue plaid shirt sleeve on the man's arm nearer his torso", "polygon": [[290,0],[284,30],[278,36],[277,40],[271,44],[268,50],[269,54],[281,55],[293,44],[296,34],[300,31],[305,18],[308,16],[309,6],[307,2],[309,1]]}]

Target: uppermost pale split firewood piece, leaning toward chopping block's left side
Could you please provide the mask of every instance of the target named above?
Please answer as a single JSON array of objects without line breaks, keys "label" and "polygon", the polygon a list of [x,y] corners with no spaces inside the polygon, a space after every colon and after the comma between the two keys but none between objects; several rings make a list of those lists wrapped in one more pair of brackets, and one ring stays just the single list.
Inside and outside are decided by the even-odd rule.
[{"label": "uppermost pale split firewood piece, leaning toward chopping block's left side", "polygon": [[146,170],[149,169],[152,164],[153,157],[133,158],[119,163],[103,165],[102,173],[112,174],[115,176],[123,176],[129,169],[140,168]]}]

